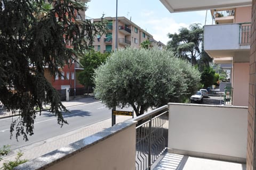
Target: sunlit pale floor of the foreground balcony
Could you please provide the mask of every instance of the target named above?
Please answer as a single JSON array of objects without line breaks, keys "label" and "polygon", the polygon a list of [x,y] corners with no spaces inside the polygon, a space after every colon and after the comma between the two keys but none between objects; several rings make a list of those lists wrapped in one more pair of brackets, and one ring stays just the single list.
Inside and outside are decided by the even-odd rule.
[{"label": "sunlit pale floor of the foreground balcony", "polygon": [[246,170],[246,164],[166,153],[154,170]]}]

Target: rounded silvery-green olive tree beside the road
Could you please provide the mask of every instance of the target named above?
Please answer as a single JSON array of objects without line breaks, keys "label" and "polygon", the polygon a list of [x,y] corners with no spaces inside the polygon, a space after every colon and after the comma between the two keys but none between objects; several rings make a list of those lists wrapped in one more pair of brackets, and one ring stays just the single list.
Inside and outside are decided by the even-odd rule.
[{"label": "rounded silvery-green olive tree beside the road", "polygon": [[199,81],[199,71],[170,51],[126,48],[95,70],[94,93],[107,107],[132,106],[139,116],[150,107],[185,101]]}]

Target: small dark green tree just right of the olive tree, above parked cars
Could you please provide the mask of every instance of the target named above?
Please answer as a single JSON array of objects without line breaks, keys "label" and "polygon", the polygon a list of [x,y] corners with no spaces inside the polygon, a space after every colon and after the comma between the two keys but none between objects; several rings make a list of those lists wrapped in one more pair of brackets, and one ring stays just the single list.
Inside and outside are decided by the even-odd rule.
[{"label": "small dark green tree just right of the olive tree, above parked cars", "polygon": [[210,87],[214,83],[215,71],[212,67],[205,67],[201,75],[201,84],[204,88]]}]

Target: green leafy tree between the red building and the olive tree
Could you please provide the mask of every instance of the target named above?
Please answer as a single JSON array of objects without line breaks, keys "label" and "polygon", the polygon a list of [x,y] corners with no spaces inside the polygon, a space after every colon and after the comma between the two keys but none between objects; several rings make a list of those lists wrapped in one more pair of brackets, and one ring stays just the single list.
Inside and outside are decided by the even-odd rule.
[{"label": "green leafy tree between the red building and the olive tree", "polygon": [[94,69],[98,68],[100,64],[106,61],[110,53],[100,53],[94,50],[87,51],[80,60],[84,70],[78,73],[78,80],[85,88],[94,87],[93,75]]}]

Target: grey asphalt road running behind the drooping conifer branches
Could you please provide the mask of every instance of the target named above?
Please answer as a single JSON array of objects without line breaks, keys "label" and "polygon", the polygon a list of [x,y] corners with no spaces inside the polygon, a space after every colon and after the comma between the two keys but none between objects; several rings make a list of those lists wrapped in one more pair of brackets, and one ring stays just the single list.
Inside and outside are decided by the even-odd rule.
[{"label": "grey asphalt road running behind the drooping conifer branches", "polygon": [[[111,110],[103,106],[100,101],[69,107],[68,109],[70,113],[63,114],[63,117],[68,121],[68,125],[65,124],[62,127],[57,124],[57,118],[49,112],[44,111],[41,116],[38,115],[35,119],[34,135],[29,136],[27,142],[23,141],[22,136],[19,136],[19,141],[17,141],[15,133],[10,139],[12,118],[0,119],[0,146],[9,144],[11,150],[18,149],[111,117]],[[131,108],[124,108],[124,110],[132,111]],[[13,117],[13,119],[15,118],[18,117]]]}]

